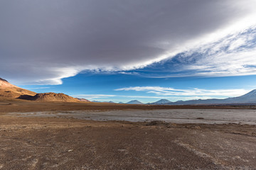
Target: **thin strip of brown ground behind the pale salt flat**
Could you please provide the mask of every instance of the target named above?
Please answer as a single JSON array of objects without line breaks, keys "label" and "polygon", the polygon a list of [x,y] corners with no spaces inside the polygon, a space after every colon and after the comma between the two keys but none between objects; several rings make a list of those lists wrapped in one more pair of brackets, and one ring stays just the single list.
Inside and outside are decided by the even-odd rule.
[{"label": "thin strip of brown ground behind the pale salt flat", "polygon": [[113,111],[126,109],[256,109],[256,106],[154,106],[154,105],[129,105],[115,103],[90,103],[90,102],[36,102],[19,99],[0,98],[0,113],[31,112],[31,111]]}]

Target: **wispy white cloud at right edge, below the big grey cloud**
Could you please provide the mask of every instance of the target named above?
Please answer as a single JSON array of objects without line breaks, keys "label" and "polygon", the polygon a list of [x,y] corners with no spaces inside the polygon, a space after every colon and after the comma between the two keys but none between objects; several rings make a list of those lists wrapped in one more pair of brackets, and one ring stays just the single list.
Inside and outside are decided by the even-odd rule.
[{"label": "wispy white cloud at right edge, below the big grey cloud", "polygon": [[[256,38],[256,31],[247,35],[233,36],[238,38],[225,39],[223,42],[212,43],[210,47],[193,50],[193,52],[200,52],[203,57],[193,64],[185,65],[183,69],[193,70],[191,74],[197,76],[223,77],[256,74],[256,43],[250,46],[253,41],[250,38]],[[220,50],[220,47],[227,49]],[[189,58],[189,55],[187,57]]]}]

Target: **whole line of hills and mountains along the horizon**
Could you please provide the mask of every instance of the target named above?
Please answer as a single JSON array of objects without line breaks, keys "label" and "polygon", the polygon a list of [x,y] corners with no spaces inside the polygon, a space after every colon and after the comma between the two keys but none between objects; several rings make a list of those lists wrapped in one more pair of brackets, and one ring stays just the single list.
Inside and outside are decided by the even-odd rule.
[{"label": "whole line of hills and mountains along the horizon", "polygon": [[[66,94],[55,94],[55,93],[43,93],[36,94],[36,92],[22,89],[18,86],[10,84],[5,79],[0,78],[0,99],[5,100],[6,98],[18,98],[29,101],[63,101],[63,102],[90,102],[85,98],[73,98]],[[99,102],[99,101],[92,101]],[[108,101],[107,103],[114,103],[113,101]],[[120,102],[122,103],[122,102]],[[153,103],[146,103],[149,105],[210,105],[210,104],[256,104],[256,89],[250,91],[249,93],[233,97],[233,98],[224,98],[224,99],[198,99],[198,100],[189,100],[189,101],[175,101],[171,102],[167,99],[161,99]],[[144,104],[140,101],[133,100],[125,104]]]}]

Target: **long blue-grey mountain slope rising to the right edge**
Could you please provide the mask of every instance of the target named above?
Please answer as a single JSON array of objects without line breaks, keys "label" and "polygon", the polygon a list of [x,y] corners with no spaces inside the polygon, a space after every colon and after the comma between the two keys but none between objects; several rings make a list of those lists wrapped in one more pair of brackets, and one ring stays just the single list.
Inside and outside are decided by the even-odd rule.
[{"label": "long blue-grey mountain slope rising to the right edge", "polygon": [[245,104],[245,103],[256,103],[256,89],[250,91],[249,93],[233,97],[233,98],[224,98],[224,99],[206,99],[206,100],[190,100],[190,101],[176,101],[165,103],[165,105],[198,105],[198,104]]}]

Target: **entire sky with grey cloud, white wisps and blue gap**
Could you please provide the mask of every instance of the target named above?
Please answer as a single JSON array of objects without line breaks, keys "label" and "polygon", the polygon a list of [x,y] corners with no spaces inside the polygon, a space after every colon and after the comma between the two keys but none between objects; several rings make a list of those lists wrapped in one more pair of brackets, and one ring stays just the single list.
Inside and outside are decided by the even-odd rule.
[{"label": "entire sky with grey cloud, white wisps and blue gap", "polygon": [[0,1],[0,77],[144,103],[256,89],[256,0]]}]

